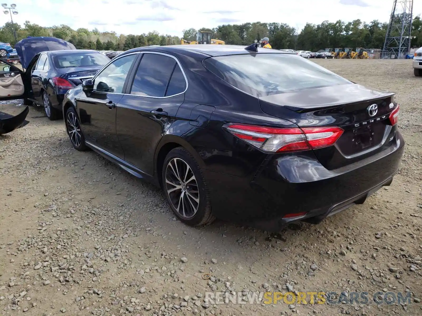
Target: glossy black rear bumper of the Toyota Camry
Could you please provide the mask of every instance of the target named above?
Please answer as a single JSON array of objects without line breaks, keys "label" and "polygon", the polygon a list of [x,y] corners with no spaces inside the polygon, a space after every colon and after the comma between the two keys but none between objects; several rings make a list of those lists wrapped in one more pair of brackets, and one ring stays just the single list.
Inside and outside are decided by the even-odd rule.
[{"label": "glossy black rear bumper of the Toyota Camry", "polygon": [[[318,223],[390,185],[398,170],[404,140],[358,163],[325,169],[312,152],[269,155],[255,174],[233,177],[203,170],[217,218],[277,232],[290,222]],[[287,214],[300,217],[285,217]],[[292,215],[290,215],[292,216]]]}]

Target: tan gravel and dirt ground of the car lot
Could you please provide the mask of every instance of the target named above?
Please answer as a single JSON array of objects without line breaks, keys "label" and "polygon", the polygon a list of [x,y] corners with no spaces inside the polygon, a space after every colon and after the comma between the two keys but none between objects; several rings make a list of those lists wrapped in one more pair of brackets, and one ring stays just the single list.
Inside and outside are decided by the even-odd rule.
[{"label": "tan gravel and dirt ground of the car lot", "polygon": [[[0,136],[0,313],[421,315],[421,79],[408,60],[315,62],[398,92],[407,145],[390,187],[319,225],[279,235],[219,221],[191,228],[160,190],[94,152],[77,152],[62,121],[31,108],[27,126]],[[224,297],[213,304],[210,291],[245,304]],[[246,303],[266,291],[334,291],[329,297],[344,302],[368,292],[368,303]],[[376,304],[377,291],[411,299]]]}]

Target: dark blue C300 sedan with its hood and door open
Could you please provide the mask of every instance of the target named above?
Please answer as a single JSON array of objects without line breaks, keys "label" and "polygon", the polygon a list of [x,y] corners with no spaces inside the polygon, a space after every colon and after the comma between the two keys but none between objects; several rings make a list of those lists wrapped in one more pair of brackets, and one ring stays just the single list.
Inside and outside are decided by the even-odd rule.
[{"label": "dark blue C300 sedan with its hood and door open", "polygon": [[[45,108],[50,120],[60,118],[63,96],[92,78],[110,59],[94,50],[79,50],[53,37],[29,37],[16,43],[24,71],[12,64],[0,69],[0,97],[24,99]],[[1,83],[1,82],[0,82]],[[7,83],[7,84],[6,84]]]}]

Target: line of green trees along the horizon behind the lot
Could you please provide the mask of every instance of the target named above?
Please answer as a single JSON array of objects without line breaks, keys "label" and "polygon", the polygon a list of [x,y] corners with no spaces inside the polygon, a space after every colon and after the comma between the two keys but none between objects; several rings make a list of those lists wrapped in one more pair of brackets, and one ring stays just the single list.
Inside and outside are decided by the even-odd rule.
[{"label": "line of green trees along the horizon behind the lot", "polygon": [[[116,50],[125,51],[130,48],[149,45],[176,45],[180,44],[180,37],[160,35],[152,31],[141,35],[123,35],[116,32],[91,31],[86,28],[72,29],[62,24],[52,27],[42,27],[26,21],[23,27],[17,23],[7,22],[0,27],[0,41],[14,45],[15,28],[17,40],[27,36],[50,36],[67,40],[79,49]],[[273,48],[291,48],[296,50],[318,51],[325,48],[364,47],[382,48],[384,46],[387,23],[374,20],[365,23],[357,19],[352,22],[341,20],[335,22],[323,21],[321,24],[307,23],[298,32],[294,27],[285,23],[243,23],[224,24],[214,29],[185,29],[181,38],[196,40],[197,31],[213,32],[214,38],[224,40],[226,44],[249,45],[254,40],[268,37]],[[395,34],[393,34],[395,35]],[[422,20],[417,16],[412,24],[412,47],[422,46]]]}]

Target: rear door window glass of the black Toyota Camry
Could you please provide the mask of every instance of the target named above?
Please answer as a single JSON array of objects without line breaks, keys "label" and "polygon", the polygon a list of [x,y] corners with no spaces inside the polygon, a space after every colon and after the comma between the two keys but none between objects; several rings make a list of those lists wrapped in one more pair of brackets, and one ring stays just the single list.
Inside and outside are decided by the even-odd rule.
[{"label": "rear door window glass of the black Toyota Camry", "polygon": [[[178,66],[176,60],[169,56],[143,54],[141,63],[136,70],[130,94],[165,96],[165,91],[175,66]],[[176,85],[173,84],[173,86]]]}]

